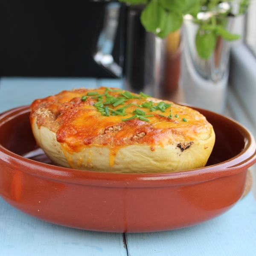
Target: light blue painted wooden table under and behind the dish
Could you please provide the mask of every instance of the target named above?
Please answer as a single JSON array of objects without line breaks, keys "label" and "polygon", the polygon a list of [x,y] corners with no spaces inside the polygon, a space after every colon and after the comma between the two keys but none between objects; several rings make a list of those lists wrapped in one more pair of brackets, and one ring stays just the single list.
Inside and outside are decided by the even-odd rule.
[{"label": "light blue painted wooden table under and behind the dish", "polygon": [[[121,87],[119,80],[0,79],[0,112],[74,87]],[[256,201],[251,193],[205,223],[155,233],[102,233],[38,220],[0,198],[0,256],[253,256]]]}]

